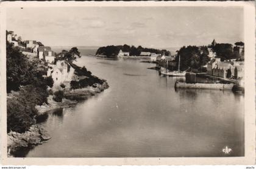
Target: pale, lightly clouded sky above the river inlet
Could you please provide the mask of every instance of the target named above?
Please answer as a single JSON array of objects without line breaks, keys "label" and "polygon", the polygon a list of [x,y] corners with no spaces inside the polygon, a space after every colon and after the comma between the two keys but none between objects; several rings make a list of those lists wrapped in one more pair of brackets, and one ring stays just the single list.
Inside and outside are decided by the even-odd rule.
[{"label": "pale, lightly clouded sky above the river inlet", "polygon": [[45,46],[180,47],[244,40],[241,7],[36,7],[7,10],[7,30]]}]

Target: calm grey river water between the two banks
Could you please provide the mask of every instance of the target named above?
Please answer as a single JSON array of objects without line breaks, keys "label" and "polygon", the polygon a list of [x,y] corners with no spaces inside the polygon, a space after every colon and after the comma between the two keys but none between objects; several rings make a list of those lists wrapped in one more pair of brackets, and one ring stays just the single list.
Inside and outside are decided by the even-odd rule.
[{"label": "calm grey river water between the two banks", "polygon": [[[110,88],[41,122],[52,139],[26,157],[244,156],[244,97],[174,89],[138,60],[79,58]],[[224,147],[232,149],[224,154]]]}]

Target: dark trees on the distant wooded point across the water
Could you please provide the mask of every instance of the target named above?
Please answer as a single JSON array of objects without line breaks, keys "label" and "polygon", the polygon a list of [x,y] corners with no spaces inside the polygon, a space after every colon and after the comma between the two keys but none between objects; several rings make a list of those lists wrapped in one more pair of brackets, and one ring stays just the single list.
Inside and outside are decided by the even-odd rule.
[{"label": "dark trees on the distant wooded point across the water", "polygon": [[151,53],[157,53],[162,54],[165,53],[166,56],[171,55],[171,52],[168,50],[159,50],[159,49],[152,49],[152,48],[146,48],[146,47],[135,47],[135,46],[129,46],[127,44],[124,44],[123,46],[104,46],[99,47],[99,49],[96,52],[96,55],[106,55],[107,57],[116,57],[118,55],[119,50],[122,50],[123,52],[129,52],[130,56],[139,56],[141,52],[151,52]]}]

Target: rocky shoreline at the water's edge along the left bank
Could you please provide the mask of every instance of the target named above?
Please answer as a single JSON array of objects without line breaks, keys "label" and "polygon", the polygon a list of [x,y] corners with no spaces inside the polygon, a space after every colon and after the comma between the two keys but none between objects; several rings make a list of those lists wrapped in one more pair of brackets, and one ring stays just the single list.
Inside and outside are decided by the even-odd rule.
[{"label": "rocky shoreline at the water's edge along the left bank", "polygon": [[[107,88],[107,81],[104,80],[103,84],[94,84],[88,88],[68,90],[64,92],[65,98],[62,99],[62,102],[55,102],[52,99],[52,95],[50,95],[48,97],[48,104],[35,107],[38,110],[38,117],[58,109],[69,108],[72,105],[76,105],[79,100],[86,100]],[[37,124],[30,126],[29,130],[25,133],[10,131],[7,134],[7,155],[8,157],[17,156],[16,154],[19,150],[29,150],[32,147],[47,142],[49,139],[51,139],[51,136],[49,136],[48,132]]]}]

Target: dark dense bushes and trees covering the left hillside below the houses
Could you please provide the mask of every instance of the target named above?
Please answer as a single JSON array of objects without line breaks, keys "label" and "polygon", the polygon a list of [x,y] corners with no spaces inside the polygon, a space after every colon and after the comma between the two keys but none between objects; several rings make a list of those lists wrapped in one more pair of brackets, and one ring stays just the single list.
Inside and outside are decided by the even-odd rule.
[{"label": "dark dense bushes and trees covering the left hillside below the houses", "polygon": [[18,91],[7,99],[7,131],[24,132],[35,123],[35,105],[47,103],[52,78],[43,78],[44,69],[7,42],[7,93]]}]

